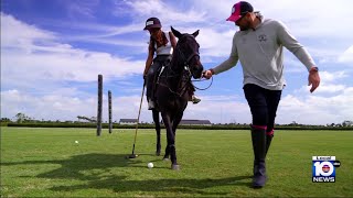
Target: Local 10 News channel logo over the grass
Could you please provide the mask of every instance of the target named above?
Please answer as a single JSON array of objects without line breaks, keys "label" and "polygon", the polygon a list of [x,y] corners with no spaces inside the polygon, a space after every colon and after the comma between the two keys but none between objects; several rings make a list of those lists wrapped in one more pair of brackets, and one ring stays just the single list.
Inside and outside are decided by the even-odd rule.
[{"label": "Local 10 News channel logo over the grass", "polygon": [[341,162],[335,156],[312,156],[312,182],[334,183],[335,168],[341,166]]}]

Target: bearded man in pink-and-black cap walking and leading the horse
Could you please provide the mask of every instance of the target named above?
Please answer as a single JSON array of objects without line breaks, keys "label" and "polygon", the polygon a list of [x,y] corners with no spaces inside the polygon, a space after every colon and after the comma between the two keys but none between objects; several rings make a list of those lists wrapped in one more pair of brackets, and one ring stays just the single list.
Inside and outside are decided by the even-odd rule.
[{"label": "bearded man in pink-and-black cap walking and leading the horse", "polygon": [[261,188],[267,180],[265,158],[274,136],[277,107],[281,90],[286,86],[284,46],[307,67],[310,92],[320,85],[319,69],[284,23],[264,19],[259,12],[254,12],[250,3],[235,3],[227,21],[234,22],[240,29],[234,34],[231,55],[218,66],[206,70],[204,77],[210,79],[212,75],[228,70],[240,62],[243,89],[253,116],[253,187]]}]

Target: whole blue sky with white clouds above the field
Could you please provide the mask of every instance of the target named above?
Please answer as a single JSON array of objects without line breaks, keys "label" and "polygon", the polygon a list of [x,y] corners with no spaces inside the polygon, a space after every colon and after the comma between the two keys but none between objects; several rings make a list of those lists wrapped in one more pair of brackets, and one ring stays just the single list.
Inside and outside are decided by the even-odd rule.
[{"label": "whole blue sky with white clouds above the field", "polygon": [[[211,68],[226,59],[238,30],[226,22],[232,0],[1,0],[1,117],[77,120],[97,116],[97,75],[113,92],[114,121],[137,118],[149,35],[145,21],[158,16],[164,31],[200,30],[201,61]],[[350,0],[254,0],[265,18],[285,22],[320,68],[321,86],[310,94],[306,67],[286,50],[287,87],[277,123],[353,121],[353,23]],[[211,81],[195,82],[200,88]],[[250,123],[242,67],[214,77],[197,91],[184,119]],[[151,122],[143,100],[141,121]]]}]

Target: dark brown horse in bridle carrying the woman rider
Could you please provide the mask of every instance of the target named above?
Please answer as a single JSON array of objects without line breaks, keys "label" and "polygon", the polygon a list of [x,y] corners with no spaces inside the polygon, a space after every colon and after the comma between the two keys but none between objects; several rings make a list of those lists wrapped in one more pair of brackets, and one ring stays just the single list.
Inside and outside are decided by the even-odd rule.
[{"label": "dark brown horse in bridle carrying the woman rider", "polygon": [[[176,162],[175,131],[191,97],[191,78],[201,78],[203,66],[200,62],[200,45],[195,40],[199,35],[199,30],[192,34],[182,34],[171,26],[171,31],[178,37],[178,43],[170,65],[163,67],[158,76],[154,98],[167,130],[167,146],[163,160],[171,160],[171,169],[178,170],[180,165]],[[156,124],[159,124],[159,118],[154,119],[154,117],[159,116],[158,111],[153,112]],[[158,146],[160,146],[159,136],[157,141],[158,152]]]}]

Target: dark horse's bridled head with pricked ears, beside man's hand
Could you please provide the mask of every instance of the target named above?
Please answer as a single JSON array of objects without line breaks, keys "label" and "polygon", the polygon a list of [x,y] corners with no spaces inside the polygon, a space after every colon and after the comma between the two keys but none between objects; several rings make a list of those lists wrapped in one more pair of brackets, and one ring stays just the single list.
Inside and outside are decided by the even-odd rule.
[{"label": "dark horse's bridled head with pricked ears, beside man's hand", "polygon": [[203,66],[200,63],[200,45],[195,37],[199,35],[199,30],[192,34],[182,34],[171,26],[173,34],[178,37],[178,43],[175,51],[173,53],[173,58],[176,61],[175,69],[190,69],[194,78],[201,78]]}]

